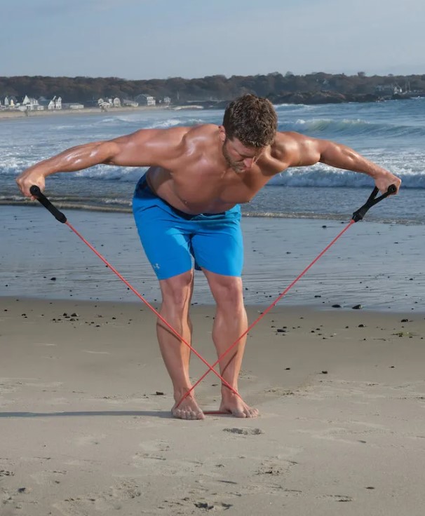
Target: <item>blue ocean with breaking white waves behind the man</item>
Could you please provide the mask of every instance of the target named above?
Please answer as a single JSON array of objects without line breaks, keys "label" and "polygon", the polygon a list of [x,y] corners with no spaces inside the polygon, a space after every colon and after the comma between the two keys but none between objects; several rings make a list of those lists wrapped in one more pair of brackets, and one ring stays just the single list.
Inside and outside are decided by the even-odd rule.
[{"label": "blue ocean with breaking white waves behind the man", "polygon": [[[425,206],[425,98],[365,104],[276,106],[279,130],[334,140],[399,175],[400,194],[367,214],[375,222],[423,224]],[[0,120],[1,204],[24,204],[15,177],[29,165],[74,145],[106,140],[140,128],[221,123],[221,110],[66,114]],[[143,168],[97,165],[48,179],[46,195],[62,208],[128,212]],[[318,163],[271,179],[242,206],[257,217],[349,219],[374,184],[366,175]]]}]

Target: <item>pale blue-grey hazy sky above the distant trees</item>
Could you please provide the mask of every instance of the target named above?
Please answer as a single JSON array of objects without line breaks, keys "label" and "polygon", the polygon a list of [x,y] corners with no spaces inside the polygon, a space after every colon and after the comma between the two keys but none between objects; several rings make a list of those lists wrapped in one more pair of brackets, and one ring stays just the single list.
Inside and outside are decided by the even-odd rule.
[{"label": "pale blue-grey hazy sky above the distant trees", "polygon": [[0,76],[425,74],[424,0],[13,0]]}]

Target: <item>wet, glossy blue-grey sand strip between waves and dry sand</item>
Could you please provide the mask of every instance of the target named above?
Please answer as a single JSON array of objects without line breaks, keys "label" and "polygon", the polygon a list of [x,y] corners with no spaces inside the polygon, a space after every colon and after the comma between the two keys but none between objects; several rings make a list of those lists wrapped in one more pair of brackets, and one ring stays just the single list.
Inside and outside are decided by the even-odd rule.
[{"label": "wet, glossy blue-grey sand strip between waves and dry sand", "polygon": [[[161,298],[130,214],[75,210],[69,222],[149,301]],[[268,306],[342,231],[340,221],[242,217],[243,296]],[[106,269],[68,226],[41,207],[3,207],[0,295],[37,299],[134,301],[133,292]],[[424,240],[420,225],[354,224],[279,302],[342,310],[421,313]],[[112,238],[113,236],[113,238]],[[28,252],[31,250],[31,252]],[[364,251],[363,251],[364,250]],[[367,252],[366,252],[367,251]],[[195,274],[194,305],[214,301],[203,273]]]}]

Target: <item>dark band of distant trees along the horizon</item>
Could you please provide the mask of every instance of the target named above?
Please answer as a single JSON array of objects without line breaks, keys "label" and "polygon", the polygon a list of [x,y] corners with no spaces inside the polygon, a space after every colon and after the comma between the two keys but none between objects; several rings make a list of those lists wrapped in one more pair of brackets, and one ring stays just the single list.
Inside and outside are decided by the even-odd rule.
[{"label": "dark band of distant trees along the horizon", "polygon": [[[141,93],[161,100],[170,97],[173,104],[185,102],[228,101],[243,93],[254,93],[268,97],[272,102],[296,101],[297,95],[318,99],[318,94],[331,94],[336,98],[358,96],[374,100],[379,96],[394,93],[425,92],[425,74],[410,76],[366,76],[358,72],[353,76],[345,74],[326,74],[324,72],[308,75],[282,75],[274,72],[267,75],[231,76],[213,75],[201,79],[149,79],[148,81],[127,81],[117,77],[44,77],[15,76],[0,77],[0,99],[6,95],[16,97],[62,97],[63,102],[87,102],[100,97],[119,97],[132,100]],[[348,97],[346,97],[348,95]],[[329,95],[328,95],[329,96]],[[320,95],[319,95],[320,97]]]}]

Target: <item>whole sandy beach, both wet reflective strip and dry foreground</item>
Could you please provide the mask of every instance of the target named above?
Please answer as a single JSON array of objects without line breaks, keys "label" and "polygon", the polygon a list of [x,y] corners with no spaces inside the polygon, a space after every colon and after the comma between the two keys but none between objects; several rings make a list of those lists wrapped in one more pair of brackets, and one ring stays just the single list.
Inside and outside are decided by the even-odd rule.
[{"label": "whole sandy beach, both wet reflective strip and dry foreground", "polygon": [[[181,421],[150,309],[43,208],[0,215],[1,516],[423,513],[423,226],[354,224],[264,315],[346,223],[243,217],[248,318],[263,318],[239,389],[260,416]],[[131,215],[66,215],[158,308]],[[198,273],[209,363],[214,315]],[[194,356],[192,381],[206,369]],[[196,397],[217,410],[220,379]]]}]

